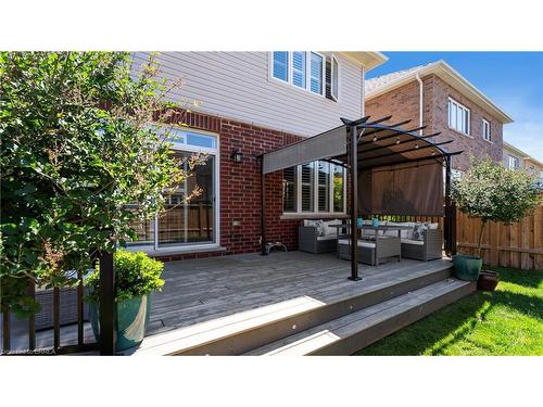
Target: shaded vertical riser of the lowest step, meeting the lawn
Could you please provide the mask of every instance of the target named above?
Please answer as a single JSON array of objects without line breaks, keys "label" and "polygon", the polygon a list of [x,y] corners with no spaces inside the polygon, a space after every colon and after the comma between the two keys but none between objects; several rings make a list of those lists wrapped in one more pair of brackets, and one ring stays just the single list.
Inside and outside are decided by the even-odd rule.
[{"label": "shaded vertical riser of the lowest step, meeting the lawn", "polygon": [[353,353],[363,349],[366,346],[388,336],[402,328],[405,328],[413,322],[430,315],[431,313],[441,309],[462,297],[476,291],[476,283],[469,283],[456,290],[450,291],[439,297],[429,300],[424,304],[414,306],[413,308],[397,314],[380,323],[376,323],[367,329],[356,332],[350,336],[341,339],[334,343],[320,347],[307,355],[321,356],[341,356],[352,355]]}]

